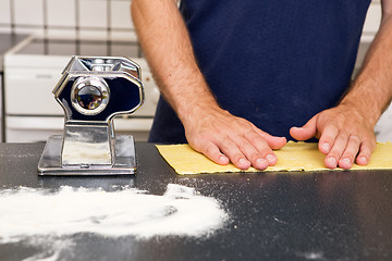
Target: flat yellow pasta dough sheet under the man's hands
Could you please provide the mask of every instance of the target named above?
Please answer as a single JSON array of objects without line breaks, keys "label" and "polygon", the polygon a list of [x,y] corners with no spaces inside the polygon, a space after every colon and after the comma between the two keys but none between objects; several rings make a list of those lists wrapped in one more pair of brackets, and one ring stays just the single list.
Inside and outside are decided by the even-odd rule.
[{"label": "flat yellow pasta dough sheet under the man's hands", "polygon": [[[182,175],[243,172],[232,163],[219,165],[193,150],[188,145],[157,145],[157,148],[175,172]],[[274,153],[278,157],[278,163],[265,171],[331,171],[324,166],[326,156],[318,150],[317,144],[289,141],[282,149],[274,150]],[[369,164],[354,164],[351,170],[392,170],[392,144],[377,144],[377,149],[372,153]],[[259,170],[250,167],[245,172],[259,172]]]}]

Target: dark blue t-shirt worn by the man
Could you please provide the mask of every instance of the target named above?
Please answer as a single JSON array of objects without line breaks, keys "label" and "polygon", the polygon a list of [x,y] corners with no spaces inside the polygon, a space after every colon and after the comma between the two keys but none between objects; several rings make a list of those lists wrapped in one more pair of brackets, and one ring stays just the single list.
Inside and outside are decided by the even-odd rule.
[{"label": "dark blue t-shirt worn by the man", "polygon": [[[218,103],[260,129],[292,139],[351,84],[370,0],[183,0],[199,69]],[[161,98],[152,142],[186,142]]]}]

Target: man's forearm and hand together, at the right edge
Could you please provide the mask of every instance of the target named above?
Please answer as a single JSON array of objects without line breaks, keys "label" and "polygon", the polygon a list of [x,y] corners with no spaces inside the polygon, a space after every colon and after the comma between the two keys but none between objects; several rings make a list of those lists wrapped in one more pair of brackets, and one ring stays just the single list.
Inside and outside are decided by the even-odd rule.
[{"label": "man's forearm and hand together, at the right edge", "polygon": [[375,125],[392,98],[392,0],[382,0],[382,20],[362,71],[341,103],[320,112],[290,134],[298,140],[319,138],[326,166],[369,163],[376,148]]}]

